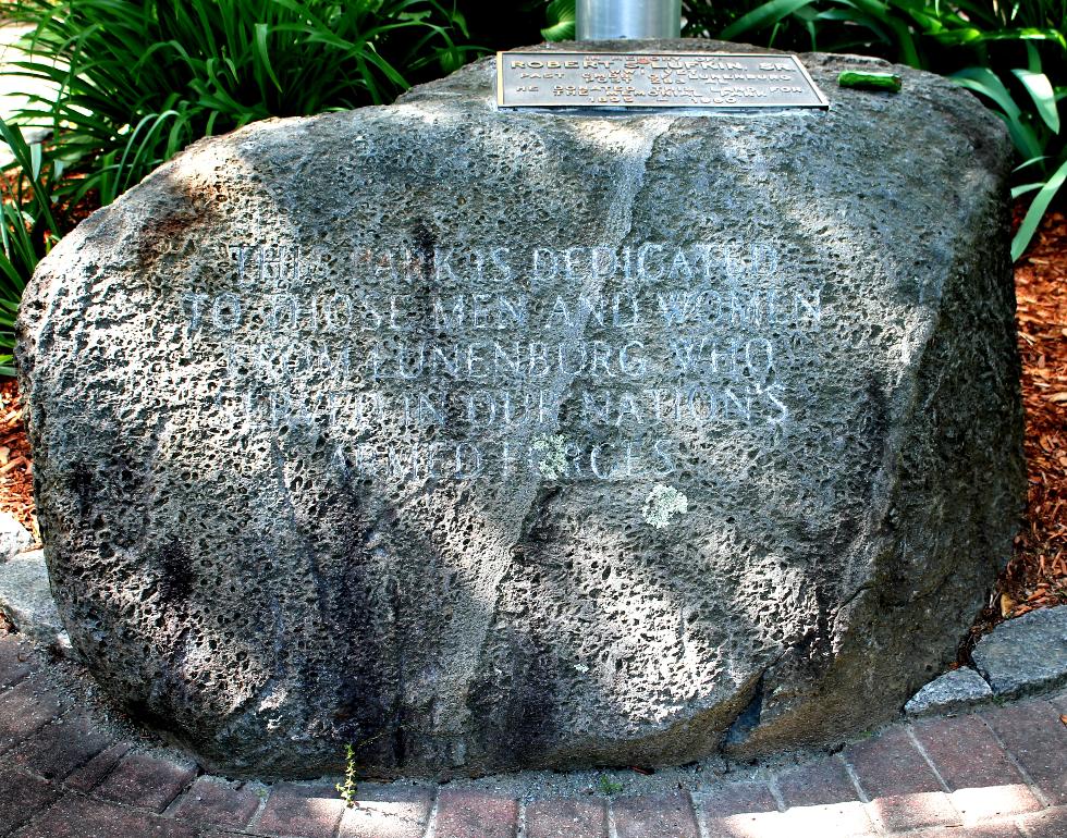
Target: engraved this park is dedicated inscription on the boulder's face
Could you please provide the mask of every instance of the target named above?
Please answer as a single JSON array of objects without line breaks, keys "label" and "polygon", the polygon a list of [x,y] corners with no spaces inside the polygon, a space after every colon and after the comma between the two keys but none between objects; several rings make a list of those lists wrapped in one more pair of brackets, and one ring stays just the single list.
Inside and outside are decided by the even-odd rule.
[{"label": "engraved this park is dedicated inscription on the boulder's face", "polygon": [[[195,361],[233,374],[217,406],[314,426],[340,473],[388,482],[670,482],[687,436],[780,432],[797,394],[775,365],[824,318],[821,287],[783,287],[761,244],[356,247],[338,288],[316,275],[334,256],[302,245],[224,257],[224,282],[181,300]],[[579,433],[554,430],[564,407]]]}]

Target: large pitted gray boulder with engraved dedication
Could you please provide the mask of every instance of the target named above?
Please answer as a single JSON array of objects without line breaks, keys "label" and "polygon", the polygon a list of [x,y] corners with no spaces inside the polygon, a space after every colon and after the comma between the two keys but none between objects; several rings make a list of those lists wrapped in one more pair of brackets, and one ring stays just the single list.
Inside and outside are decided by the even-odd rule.
[{"label": "large pitted gray boulder with engraved dedication", "polygon": [[502,112],[482,61],[198,143],[68,236],[19,359],[106,691],[232,774],[899,712],[1021,508],[1011,153],[942,78],[804,60],[829,111]]}]

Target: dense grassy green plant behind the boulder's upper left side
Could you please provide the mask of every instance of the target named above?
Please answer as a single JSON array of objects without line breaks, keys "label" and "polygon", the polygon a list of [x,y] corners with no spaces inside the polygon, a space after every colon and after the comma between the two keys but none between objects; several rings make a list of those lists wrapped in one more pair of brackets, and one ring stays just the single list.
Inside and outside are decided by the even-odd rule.
[{"label": "dense grassy green plant behind the boulder's upper left side", "polygon": [[109,204],[186,145],[267,116],[391,101],[474,50],[443,0],[17,0],[20,71],[58,88],[20,120],[50,125]]}]

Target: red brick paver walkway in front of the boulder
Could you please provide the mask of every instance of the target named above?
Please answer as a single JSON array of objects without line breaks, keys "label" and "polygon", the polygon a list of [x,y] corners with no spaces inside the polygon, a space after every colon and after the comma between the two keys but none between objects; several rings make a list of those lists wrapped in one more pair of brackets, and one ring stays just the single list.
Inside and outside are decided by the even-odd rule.
[{"label": "red brick paver walkway in front of the boulder", "polygon": [[176,751],[123,741],[58,686],[53,667],[0,636],[0,836],[1067,837],[1067,693],[899,723],[832,756],[689,789],[675,776],[612,797],[490,780],[360,784],[346,809],[331,781],[228,781]]}]

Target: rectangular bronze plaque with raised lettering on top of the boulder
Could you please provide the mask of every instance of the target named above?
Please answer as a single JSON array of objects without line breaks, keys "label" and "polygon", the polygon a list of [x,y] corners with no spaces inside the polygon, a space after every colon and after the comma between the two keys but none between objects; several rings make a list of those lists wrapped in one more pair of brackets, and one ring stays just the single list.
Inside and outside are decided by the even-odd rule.
[{"label": "rectangular bronze plaque with raised lettering on top of the boulder", "polygon": [[501,108],[829,108],[796,56],[498,52]]}]

